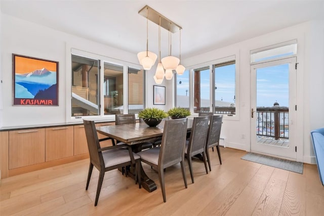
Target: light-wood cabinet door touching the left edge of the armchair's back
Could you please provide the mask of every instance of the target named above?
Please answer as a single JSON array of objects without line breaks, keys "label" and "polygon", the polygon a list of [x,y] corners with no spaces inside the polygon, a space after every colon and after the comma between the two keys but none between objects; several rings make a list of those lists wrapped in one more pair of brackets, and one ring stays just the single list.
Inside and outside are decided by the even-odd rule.
[{"label": "light-wood cabinet door touching the left edge of the armchair's back", "polygon": [[89,153],[84,125],[74,125],[74,155]]}]

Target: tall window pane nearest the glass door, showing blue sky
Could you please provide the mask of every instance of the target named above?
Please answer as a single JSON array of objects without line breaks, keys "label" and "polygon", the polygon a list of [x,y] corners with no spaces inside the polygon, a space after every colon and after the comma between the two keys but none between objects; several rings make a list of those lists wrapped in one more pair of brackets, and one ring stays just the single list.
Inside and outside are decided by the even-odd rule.
[{"label": "tall window pane nearest the glass door, showing blue sky", "polygon": [[215,113],[235,114],[235,62],[215,65]]}]

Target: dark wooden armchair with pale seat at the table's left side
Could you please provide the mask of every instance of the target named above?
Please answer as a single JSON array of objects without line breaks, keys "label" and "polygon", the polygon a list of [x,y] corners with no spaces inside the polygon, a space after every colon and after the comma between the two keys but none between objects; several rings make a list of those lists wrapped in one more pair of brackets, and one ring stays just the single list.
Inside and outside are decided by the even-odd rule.
[{"label": "dark wooden armchair with pale seat at the table's left side", "polygon": [[[141,188],[140,156],[136,153],[133,153],[131,147],[127,144],[101,148],[99,143],[101,140],[98,139],[95,122],[89,120],[83,121],[85,125],[88,149],[90,154],[90,165],[86,190],[88,190],[89,187],[93,167],[95,166],[99,170],[95,206],[97,206],[98,203],[99,194],[106,171],[121,168],[127,165],[133,166],[134,164],[136,164],[135,184],[138,182],[139,188]],[[124,149],[123,147],[128,147],[128,149]]]}]

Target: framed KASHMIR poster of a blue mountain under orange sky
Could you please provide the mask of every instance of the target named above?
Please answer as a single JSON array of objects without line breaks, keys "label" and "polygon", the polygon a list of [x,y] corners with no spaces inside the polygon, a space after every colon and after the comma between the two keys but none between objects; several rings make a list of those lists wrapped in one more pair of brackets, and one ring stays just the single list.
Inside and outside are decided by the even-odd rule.
[{"label": "framed KASHMIR poster of a blue mountain under orange sky", "polygon": [[13,105],[58,106],[59,63],[12,54]]}]

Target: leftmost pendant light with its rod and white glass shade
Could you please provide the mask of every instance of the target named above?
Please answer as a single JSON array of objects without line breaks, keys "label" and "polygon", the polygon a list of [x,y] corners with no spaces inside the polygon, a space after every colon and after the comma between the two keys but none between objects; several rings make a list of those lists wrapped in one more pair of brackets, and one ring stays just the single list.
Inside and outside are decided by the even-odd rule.
[{"label": "leftmost pendant light with its rod and white glass shade", "polygon": [[148,51],[148,7],[146,16],[146,51],[138,53],[137,58],[144,70],[150,70],[157,58],[155,53]]}]

